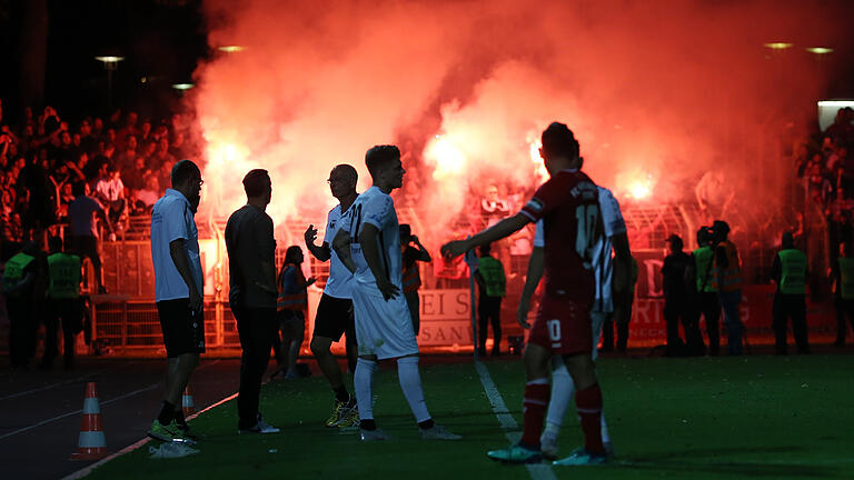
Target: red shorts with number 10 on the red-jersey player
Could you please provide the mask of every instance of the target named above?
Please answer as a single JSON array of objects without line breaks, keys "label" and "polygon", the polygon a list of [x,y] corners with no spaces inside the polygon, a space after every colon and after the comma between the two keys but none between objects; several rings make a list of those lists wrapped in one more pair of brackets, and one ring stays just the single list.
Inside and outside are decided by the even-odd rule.
[{"label": "red shorts with number 10 on the red-jersey player", "polygon": [[593,352],[589,306],[546,296],[539,304],[528,342],[557,354]]}]

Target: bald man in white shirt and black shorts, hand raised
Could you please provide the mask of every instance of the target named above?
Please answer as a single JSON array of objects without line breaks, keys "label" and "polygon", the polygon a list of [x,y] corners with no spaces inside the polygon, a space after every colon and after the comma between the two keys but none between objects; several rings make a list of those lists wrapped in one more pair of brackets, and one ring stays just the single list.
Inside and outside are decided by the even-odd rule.
[{"label": "bald man in white shirt and black shorts, hand raised", "polygon": [[359,418],[356,411],[356,399],[344,386],[341,368],[338,367],[338,360],[329,350],[334,341],[340,340],[341,334],[347,334],[347,362],[350,366],[350,371],[356,370],[357,348],[350,292],[352,273],[347,270],[338,258],[338,253],[332,251],[329,246],[341,227],[341,217],[349,211],[356,197],[359,196],[356,193],[358,178],[356,169],[348,164],[336,166],[329,172],[327,180],[329,189],[332,197],[340,203],[329,211],[322,244],[315,244],[315,239],[317,239],[315,226],[308,226],[305,233],[308,251],[320,261],[329,260],[329,278],[324,288],[324,294],[320,297],[320,303],[317,306],[315,331],[311,334],[311,353],[314,353],[320,371],[329,380],[329,386],[335,392],[335,406],[332,414],[326,421],[327,427],[352,427]]}]

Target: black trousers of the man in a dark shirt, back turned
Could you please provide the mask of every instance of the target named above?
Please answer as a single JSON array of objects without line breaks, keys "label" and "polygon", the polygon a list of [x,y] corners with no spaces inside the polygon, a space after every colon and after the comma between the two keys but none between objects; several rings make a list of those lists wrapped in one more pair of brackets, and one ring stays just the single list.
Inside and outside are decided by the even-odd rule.
[{"label": "black trousers of the man in a dark shirt, back turned", "polygon": [[246,308],[231,304],[240,336],[240,390],[237,396],[239,429],[248,429],[258,421],[261,377],[270,360],[272,336],[278,330],[276,308]]}]

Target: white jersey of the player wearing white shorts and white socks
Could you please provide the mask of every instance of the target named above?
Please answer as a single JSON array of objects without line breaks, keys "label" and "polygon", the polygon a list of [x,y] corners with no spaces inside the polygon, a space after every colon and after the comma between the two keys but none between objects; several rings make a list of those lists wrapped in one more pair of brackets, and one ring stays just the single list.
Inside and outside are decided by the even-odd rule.
[{"label": "white jersey of the player wearing white shorts and white socks", "polygon": [[403,288],[400,282],[401,273],[401,252],[400,252],[400,231],[397,223],[397,212],[395,211],[395,201],[391,197],[383,193],[377,187],[371,187],[361,193],[352,203],[344,217],[341,228],[350,233],[350,254],[356,263],[356,273],[354,279],[359,284],[374,286],[376,279],[365,261],[365,254],[361,251],[359,232],[365,223],[370,223],[379,230],[377,240],[379,242],[379,257],[383,269],[388,280]]}]

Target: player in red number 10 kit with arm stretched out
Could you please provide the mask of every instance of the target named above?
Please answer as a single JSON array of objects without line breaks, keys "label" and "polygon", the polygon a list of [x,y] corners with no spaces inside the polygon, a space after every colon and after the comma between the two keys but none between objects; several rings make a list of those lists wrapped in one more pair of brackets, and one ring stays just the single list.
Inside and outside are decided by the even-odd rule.
[{"label": "player in red number 10 kit with arm stretched out", "polygon": [[[595,348],[590,321],[595,281],[590,263],[596,241],[603,234],[598,190],[580,172],[578,142],[565,124],[554,122],[543,131],[539,153],[552,178],[537,189],[522,211],[469,239],[446,243],[441,253],[456,257],[543,219],[546,294],[524,356],[528,380],[524,433],[519,443],[489,451],[487,456],[512,463],[542,460],[539,436],[549,397],[549,360],[553,354],[560,354],[577,387],[575,403],[585,437],[584,448],[573,453],[570,463],[604,463],[607,454],[599,424],[602,391],[590,357]],[[567,460],[563,464],[567,464]]]}]

